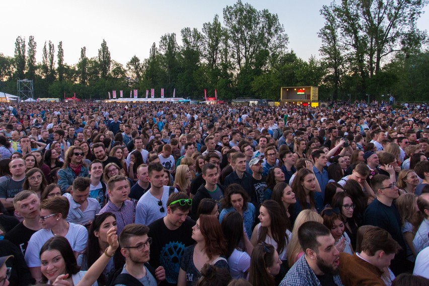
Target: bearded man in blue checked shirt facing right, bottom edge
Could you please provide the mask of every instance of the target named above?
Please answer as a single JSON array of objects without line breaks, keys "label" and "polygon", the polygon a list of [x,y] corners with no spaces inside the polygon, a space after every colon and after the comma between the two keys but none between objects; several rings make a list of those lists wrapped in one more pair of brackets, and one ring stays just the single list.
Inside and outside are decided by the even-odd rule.
[{"label": "bearded man in blue checked shirt facing right, bottom edge", "polygon": [[339,252],[329,229],[317,222],[306,222],[298,230],[298,240],[304,255],[284,276],[280,286],[341,286]]}]

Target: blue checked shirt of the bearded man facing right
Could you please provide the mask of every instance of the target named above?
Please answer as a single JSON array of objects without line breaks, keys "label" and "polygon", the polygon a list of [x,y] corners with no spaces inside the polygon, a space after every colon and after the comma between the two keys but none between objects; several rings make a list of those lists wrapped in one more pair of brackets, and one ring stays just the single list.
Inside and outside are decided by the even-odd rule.
[{"label": "blue checked shirt of the bearded man facing right", "polygon": [[[334,283],[343,286],[339,275],[334,275]],[[307,263],[305,255],[291,267],[286,276],[281,280],[279,286],[322,286],[319,279]]]}]

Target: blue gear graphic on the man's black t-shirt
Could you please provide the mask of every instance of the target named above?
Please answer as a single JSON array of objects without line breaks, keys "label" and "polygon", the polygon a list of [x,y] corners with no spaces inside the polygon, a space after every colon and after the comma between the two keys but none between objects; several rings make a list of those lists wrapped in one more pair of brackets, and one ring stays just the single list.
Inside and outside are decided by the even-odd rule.
[{"label": "blue gear graphic on the man's black t-shirt", "polygon": [[160,253],[160,264],[164,266],[166,280],[169,283],[177,283],[177,273],[180,268],[180,257],[186,246],[178,241],[167,243]]}]

